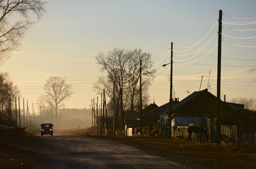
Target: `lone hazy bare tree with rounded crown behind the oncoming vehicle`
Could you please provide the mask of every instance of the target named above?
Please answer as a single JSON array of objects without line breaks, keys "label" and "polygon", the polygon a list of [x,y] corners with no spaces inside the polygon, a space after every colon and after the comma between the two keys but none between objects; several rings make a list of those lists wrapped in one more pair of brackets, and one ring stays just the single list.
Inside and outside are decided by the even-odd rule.
[{"label": "lone hazy bare tree with rounded crown behind the oncoming vehicle", "polygon": [[38,97],[38,104],[45,108],[49,105],[55,110],[55,116],[58,114],[58,109],[64,106],[64,101],[72,94],[72,84],[66,83],[66,78],[50,77],[44,85],[45,94]]}]

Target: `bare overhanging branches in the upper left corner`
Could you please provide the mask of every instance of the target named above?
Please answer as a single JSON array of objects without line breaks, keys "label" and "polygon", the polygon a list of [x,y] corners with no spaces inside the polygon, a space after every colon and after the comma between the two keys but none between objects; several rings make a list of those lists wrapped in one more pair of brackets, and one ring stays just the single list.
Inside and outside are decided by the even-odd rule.
[{"label": "bare overhanging branches in the upper left corner", "polygon": [[34,24],[30,14],[39,20],[45,12],[45,3],[42,0],[0,0],[0,62],[19,47],[25,32]]}]

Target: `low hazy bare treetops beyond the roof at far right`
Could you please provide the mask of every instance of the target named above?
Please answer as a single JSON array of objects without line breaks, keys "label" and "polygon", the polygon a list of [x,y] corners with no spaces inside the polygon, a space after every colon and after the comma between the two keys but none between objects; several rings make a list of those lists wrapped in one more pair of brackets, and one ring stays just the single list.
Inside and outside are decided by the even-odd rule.
[{"label": "low hazy bare treetops beyond the roof at far right", "polygon": [[247,98],[247,97],[232,98],[230,102],[237,103],[237,104],[244,104],[244,109],[256,111],[256,98]]}]

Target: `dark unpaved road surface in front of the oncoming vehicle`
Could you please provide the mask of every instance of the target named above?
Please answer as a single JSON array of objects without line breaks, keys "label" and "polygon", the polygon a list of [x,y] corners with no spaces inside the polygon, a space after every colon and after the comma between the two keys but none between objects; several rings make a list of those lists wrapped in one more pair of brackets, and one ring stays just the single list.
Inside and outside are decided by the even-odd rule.
[{"label": "dark unpaved road surface in front of the oncoming vehicle", "polygon": [[151,156],[131,146],[90,136],[28,136],[23,147],[51,169],[183,169],[188,166]]}]

